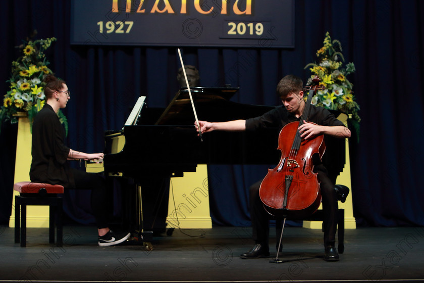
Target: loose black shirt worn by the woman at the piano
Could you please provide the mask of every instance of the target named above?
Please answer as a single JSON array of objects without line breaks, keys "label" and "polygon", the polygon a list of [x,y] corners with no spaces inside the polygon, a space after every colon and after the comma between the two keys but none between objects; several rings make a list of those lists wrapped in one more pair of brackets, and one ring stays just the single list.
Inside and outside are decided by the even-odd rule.
[{"label": "loose black shirt worn by the woman at the piano", "polygon": [[32,124],[32,162],[29,177],[33,182],[75,187],[64,144],[65,130],[50,105],[45,104]]}]

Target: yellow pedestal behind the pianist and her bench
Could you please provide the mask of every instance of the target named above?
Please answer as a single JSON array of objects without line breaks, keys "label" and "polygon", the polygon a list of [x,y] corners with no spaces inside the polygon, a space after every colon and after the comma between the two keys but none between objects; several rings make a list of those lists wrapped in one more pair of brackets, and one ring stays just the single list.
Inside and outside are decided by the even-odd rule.
[{"label": "yellow pedestal behind the pianist and her bench", "polygon": [[[31,167],[32,135],[28,117],[19,117],[18,137],[16,141],[15,179],[14,182],[29,181]],[[13,188],[10,188],[13,190]],[[9,226],[15,227],[15,196],[19,193],[13,191],[12,215]],[[27,227],[48,227],[48,206],[27,207]]]}]

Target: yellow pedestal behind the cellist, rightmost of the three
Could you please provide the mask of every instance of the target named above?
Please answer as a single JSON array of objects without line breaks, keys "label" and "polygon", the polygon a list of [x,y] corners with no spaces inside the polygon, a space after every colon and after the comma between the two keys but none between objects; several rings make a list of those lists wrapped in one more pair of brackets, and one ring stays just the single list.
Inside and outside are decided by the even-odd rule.
[{"label": "yellow pedestal behind the cellist, rightmost of the three", "polygon": [[[340,114],[339,117],[337,117],[340,121],[342,121],[345,125],[347,125],[347,115],[346,114]],[[345,203],[339,202],[339,208],[342,208],[345,210],[345,228],[346,229],[355,229],[356,228],[356,221],[355,217],[353,217],[353,204],[352,204],[352,186],[350,182],[350,156],[349,156],[349,140],[346,138],[346,164],[343,169],[343,171],[340,173],[340,175],[337,177],[336,184],[345,185],[349,188],[350,192],[349,195],[346,198]],[[322,204],[319,209],[322,209]],[[311,228],[311,229],[321,229],[322,222],[320,221],[303,221],[303,227],[305,228]]]}]

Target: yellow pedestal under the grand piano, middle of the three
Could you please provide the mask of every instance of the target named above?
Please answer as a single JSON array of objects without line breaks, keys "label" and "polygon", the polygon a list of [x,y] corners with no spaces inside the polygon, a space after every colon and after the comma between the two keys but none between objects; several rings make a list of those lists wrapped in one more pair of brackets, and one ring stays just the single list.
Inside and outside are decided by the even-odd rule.
[{"label": "yellow pedestal under the grand piano, middle of the three", "polygon": [[171,228],[212,227],[206,165],[171,178],[167,223]]}]

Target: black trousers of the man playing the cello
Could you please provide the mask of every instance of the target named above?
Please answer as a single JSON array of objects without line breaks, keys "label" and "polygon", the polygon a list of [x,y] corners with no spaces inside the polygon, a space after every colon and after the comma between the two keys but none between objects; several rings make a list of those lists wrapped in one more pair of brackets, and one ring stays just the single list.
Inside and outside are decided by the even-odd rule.
[{"label": "black trousers of the man playing the cello", "polygon": [[[324,244],[334,245],[337,231],[338,203],[334,182],[330,180],[326,171],[317,171],[321,181],[320,189],[324,213]],[[252,238],[256,244],[261,244],[269,248],[270,219],[271,215],[263,208],[259,198],[259,186],[262,181],[258,181],[250,186],[250,217],[252,221]],[[278,219],[277,219],[278,221]],[[277,226],[278,227],[278,226]],[[279,230],[281,232],[281,229]],[[277,238],[280,235],[277,229]]]}]

